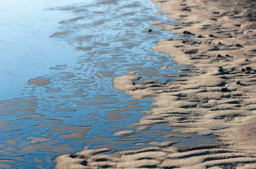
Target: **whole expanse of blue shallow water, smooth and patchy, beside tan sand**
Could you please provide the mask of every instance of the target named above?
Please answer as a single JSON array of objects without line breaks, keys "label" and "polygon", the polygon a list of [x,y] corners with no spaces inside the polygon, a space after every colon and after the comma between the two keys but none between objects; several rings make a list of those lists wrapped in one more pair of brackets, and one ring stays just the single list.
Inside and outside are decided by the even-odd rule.
[{"label": "whole expanse of blue shallow water, smooth and patchy, beside tan sand", "polygon": [[[114,77],[135,70],[141,80],[169,82],[164,75],[183,68],[150,48],[158,39],[180,38],[151,28],[156,21],[174,22],[159,7],[148,0],[25,1],[0,6],[1,15],[8,14],[0,29],[8,32],[1,42],[1,100],[6,100],[0,105],[1,167],[53,168],[57,155],[84,145],[125,150],[152,141],[181,141],[173,145],[179,147],[215,144],[198,135],[164,138],[174,134],[165,124],[113,136],[135,130],[132,124],[148,115],[141,112],[153,108],[150,98],[135,100],[114,89]],[[163,65],[168,68],[160,69]],[[35,78],[51,84],[27,83]]]}]

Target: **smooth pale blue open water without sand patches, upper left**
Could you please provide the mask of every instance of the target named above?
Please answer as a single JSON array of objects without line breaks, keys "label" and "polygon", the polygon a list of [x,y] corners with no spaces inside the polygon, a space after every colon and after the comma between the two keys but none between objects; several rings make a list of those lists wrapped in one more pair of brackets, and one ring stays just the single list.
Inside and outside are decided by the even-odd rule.
[{"label": "smooth pale blue open water without sand patches, upper left", "polygon": [[8,100],[20,97],[29,79],[49,74],[57,64],[75,64],[74,57],[82,55],[75,46],[50,38],[59,31],[59,21],[75,15],[47,9],[93,1],[0,2],[0,100]]}]

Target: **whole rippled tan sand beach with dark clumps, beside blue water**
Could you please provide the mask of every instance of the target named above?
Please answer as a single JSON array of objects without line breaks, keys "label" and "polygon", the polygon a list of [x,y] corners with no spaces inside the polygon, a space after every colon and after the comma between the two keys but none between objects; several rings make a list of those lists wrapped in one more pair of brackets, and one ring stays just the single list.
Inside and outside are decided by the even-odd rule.
[{"label": "whole rippled tan sand beach with dark clumps, beside blue water", "polygon": [[[184,127],[176,132],[214,135],[220,142],[183,149],[170,146],[174,143],[151,143],[159,147],[112,155],[103,153],[112,151],[108,148],[85,147],[82,152],[57,157],[56,167],[256,168],[256,2],[152,2],[161,2],[157,4],[161,11],[172,14],[170,19],[180,20],[174,25],[163,25],[164,30],[181,35],[187,30],[195,37],[202,35],[183,43],[182,39],[162,39],[152,47],[173,57],[177,64],[191,66],[179,72],[192,73],[178,75],[172,83],[160,83],[136,82],[140,77],[130,72],[115,78],[113,86],[135,99],[153,96],[156,101],[155,108],[148,112],[153,116],[143,117],[136,123],[145,125],[138,130],[167,121],[170,126]],[[246,67],[248,70],[242,70]]]}]

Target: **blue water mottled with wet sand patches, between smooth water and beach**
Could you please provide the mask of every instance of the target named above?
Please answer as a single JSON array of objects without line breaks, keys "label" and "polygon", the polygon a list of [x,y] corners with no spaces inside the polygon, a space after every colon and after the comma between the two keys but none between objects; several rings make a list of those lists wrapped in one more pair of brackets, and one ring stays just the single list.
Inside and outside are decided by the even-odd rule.
[{"label": "blue water mottled with wet sand patches, between smooth water and beach", "polygon": [[[74,56],[75,65],[57,65],[50,68],[52,74],[28,79],[22,98],[1,102],[1,167],[50,168],[57,155],[78,152],[84,145],[116,151],[146,148],[153,141],[173,141],[178,147],[215,144],[210,137],[176,134],[161,119],[134,126],[150,113],[153,101],[132,99],[112,86],[114,77],[126,73],[169,82],[164,75],[182,68],[150,48],[158,39],[176,37],[158,28],[172,20],[155,5],[97,1],[48,10],[77,15],[60,21],[52,38],[75,44],[84,55]],[[156,21],[161,22],[149,25]]]}]

